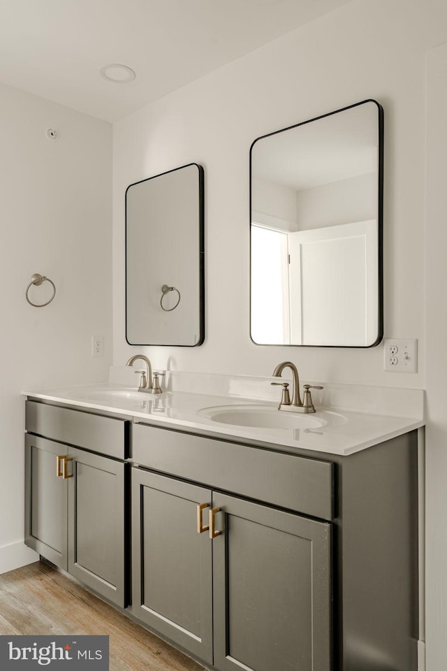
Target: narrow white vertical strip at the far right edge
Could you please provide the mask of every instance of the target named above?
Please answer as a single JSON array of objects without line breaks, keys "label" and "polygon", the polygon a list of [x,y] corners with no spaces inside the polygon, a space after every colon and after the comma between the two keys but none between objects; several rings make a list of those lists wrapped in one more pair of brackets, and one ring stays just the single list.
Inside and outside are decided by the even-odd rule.
[{"label": "narrow white vertical strip at the far right edge", "polygon": [[447,668],[447,45],[428,55],[427,671]]}]

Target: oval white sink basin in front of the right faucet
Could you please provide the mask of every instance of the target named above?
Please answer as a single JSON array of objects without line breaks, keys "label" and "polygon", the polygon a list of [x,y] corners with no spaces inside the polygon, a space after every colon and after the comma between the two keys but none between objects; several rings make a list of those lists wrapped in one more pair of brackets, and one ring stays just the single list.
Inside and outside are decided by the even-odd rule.
[{"label": "oval white sink basin in front of the right faucet", "polygon": [[330,410],[300,414],[265,405],[214,405],[202,408],[198,414],[220,424],[250,428],[319,428],[347,421],[344,415]]}]

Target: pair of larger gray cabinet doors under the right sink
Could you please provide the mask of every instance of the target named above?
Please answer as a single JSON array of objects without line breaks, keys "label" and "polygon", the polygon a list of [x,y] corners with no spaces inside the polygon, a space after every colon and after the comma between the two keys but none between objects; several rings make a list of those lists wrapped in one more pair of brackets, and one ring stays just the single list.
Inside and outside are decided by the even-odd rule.
[{"label": "pair of larger gray cabinet doors under the right sink", "polygon": [[221,671],[330,669],[330,524],[141,468],[132,497],[138,619]]}]

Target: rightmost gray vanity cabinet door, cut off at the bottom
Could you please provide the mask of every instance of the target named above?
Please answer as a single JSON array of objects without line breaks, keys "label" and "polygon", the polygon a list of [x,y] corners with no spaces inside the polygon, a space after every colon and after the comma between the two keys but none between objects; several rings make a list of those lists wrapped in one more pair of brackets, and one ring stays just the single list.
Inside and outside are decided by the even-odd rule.
[{"label": "rightmost gray vanity cabinet door, cut off at the bottom", "polygon": [[330,524],[213,492],[214,666],[328,671]]}]

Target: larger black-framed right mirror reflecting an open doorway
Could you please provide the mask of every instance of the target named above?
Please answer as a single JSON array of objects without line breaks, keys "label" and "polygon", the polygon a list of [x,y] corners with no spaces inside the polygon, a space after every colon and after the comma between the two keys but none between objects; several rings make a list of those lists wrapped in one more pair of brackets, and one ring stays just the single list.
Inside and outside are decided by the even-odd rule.
[{"label": "larger black-framed right mirror reflecting an open doorway", "polygon": [[374,100],[250,150],[251,339],[373,347],[383,336],[383,109]]}]

